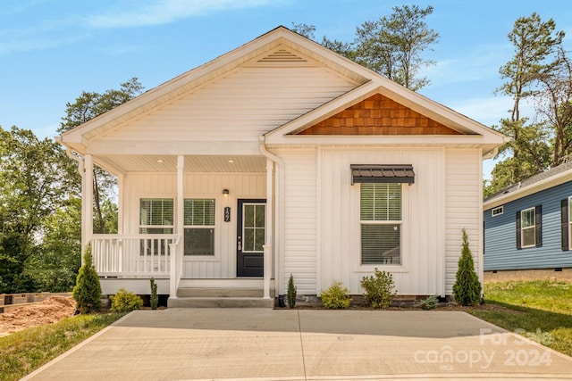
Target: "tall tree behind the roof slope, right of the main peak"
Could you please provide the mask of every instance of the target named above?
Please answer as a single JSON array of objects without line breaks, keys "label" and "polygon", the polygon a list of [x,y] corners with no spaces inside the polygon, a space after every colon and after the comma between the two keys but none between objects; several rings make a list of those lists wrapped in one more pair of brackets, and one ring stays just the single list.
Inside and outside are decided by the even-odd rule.
[{"label": "tall tree behind the roof slope, right of the main peak", "polygon": [[[431,5],[425,9],[417,5],[396,6],[389,17],[366,21],[357,27],[353,42],[344,43],[324,37],[321,44],[417,91],[429,84],[426,77],[420,77],[421,70],[434,64],[433,61],[424,59],[422,54],[439,40],[439,33],[429,29],[425,22],[431,13]],[[314,25],[292,24],[292,30],[314,39]]]}]

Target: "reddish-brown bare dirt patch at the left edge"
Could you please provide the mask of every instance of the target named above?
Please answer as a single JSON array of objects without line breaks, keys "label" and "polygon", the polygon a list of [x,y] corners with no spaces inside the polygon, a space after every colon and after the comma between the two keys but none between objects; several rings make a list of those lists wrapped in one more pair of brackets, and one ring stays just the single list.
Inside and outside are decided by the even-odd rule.
[{"label": "reddish-brown bare dirt patch at the left edge", "polygon": [[60,295],[49,296],[43,302],[13,307],[0,313],[0,335],[55,323],[73,316],[74,312],[75,301],[71,296]]}]

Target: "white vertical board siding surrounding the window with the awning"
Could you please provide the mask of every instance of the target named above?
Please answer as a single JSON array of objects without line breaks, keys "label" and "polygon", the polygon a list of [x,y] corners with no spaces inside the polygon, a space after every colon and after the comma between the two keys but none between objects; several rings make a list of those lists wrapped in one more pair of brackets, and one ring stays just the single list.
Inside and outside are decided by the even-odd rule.
[{"label": "white vertical board siding surrounding the window with the awning", "polygon": [[[402,185],[402,265],[361,265],[359,189],[351,164],[412,164],[415,184]],[[329,149],[318,153],[320,263],[318,294],[341,281],[362,294],[362,277],[390,271],[398,294],[442,294],[445,252],[445,151],[442,148]]]}]

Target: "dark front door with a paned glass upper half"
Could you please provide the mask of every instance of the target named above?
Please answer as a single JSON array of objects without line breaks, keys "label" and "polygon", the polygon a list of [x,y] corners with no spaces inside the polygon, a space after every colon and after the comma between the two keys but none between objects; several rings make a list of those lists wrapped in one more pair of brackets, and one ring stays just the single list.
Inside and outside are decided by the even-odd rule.
[{"label": "dark front door with a paned glass upper half", "polygon": [[239,200],[237,277],[264,276],[266,200]]}]

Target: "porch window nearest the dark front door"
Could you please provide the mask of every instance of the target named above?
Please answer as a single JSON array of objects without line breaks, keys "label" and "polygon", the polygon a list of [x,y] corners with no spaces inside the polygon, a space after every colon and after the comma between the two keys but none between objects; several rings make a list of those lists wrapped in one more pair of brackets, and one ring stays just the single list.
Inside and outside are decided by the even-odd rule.
[{"label": "porch window nearest the dark front door", "polygon": [[214,255],[214,199],[184,202],[185,255]]}]

